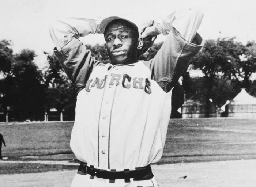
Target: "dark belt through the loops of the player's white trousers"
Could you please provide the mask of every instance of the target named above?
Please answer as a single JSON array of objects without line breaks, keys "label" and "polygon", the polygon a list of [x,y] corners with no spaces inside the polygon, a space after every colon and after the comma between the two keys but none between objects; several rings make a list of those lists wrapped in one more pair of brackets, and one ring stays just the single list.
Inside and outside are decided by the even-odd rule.
[{"label": "dark belt through the loops of the player's white trousers", "polygon": [[114,183],[116,179],[124,179],[124,182],[131,182],[130,179],[133,180],[149,180],[153,178],[153,173],[151,170],[151,166],[147,165],[145,167],[138,167],[135,170],[124,169],[124,171],[116,171],[115,169],[111,169],[110,171],[103,169],[96,169],[93,165],[87,166],[87,163],[81,163],[78,168],[78,174],[80,175],[91,175],[90,179],[97,178],[109,179],[110,183]]}]

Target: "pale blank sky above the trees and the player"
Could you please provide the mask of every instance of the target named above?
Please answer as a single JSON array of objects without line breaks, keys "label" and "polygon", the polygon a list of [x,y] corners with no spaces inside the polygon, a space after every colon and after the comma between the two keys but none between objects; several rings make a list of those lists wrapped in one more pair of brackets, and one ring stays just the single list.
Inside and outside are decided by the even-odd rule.
[{"label": "pale blank sky above the trees and the player", "polygon": [[[198,33],[203,39],[236,37],[246,43],[256,40],[256,1],[253,0],[1,0],[0,40],[13,43],[14,53],[31,49],[39,68],[46,64],[43,51],[54,48],[48,24],[64,17],[95,18],[129,16],[136,22],[165,17],[182,8],[201,8],[204,12]],[[102,34],[83,37],[84,43],[104,43]],[[164,40],[158,37],[157,42]]]}]

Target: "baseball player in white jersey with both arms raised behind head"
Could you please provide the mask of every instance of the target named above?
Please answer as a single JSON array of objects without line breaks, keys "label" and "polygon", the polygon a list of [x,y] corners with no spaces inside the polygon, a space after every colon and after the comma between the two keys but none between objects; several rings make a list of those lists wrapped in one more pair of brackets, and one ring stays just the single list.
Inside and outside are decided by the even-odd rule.
[{"label": "baseball player in white jersey with both arms raised behind head", "polygon": [[[153,187],[150,164],[162,156],[172,88],[202,47],[201,11],[176,11],[142,33],[131,20],[67,18],[49,26],[59,59],[78,93],[70,146],[81,161],[72,187]],[[95,60],[79,40],[103,34],[111,64]],[[167,35],[150,61],[143,38]],[[152,42],[151,42],[152,45]]]}]

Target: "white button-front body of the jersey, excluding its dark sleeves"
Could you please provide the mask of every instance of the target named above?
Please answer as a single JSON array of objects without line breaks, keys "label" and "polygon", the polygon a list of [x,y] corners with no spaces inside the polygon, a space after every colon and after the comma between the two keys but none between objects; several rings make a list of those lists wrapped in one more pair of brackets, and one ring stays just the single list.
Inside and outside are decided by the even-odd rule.
[{"label": "white button-front body of the jersey, excluding its dark sleeves", "polygon": [[123,170],[158,161],[170,98],[171,92],[151,79],[143,62],[96,66],[77,96],[72,150],[79,160],[102,169]]}]

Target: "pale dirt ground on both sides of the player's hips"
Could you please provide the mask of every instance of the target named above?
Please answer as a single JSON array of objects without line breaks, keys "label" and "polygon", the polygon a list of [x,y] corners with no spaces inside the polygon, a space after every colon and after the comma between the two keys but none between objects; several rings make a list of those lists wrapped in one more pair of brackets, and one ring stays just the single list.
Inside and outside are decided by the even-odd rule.
[{"label": "pale dirt ground on both sides of the player's hips", "polygon": [[[256,185],[256,160],[253,159],[152,165],[152,169],[160,187],[255,187]],[[1,175],[0,186],[69,187],[75,173],[76,170]]]}]

